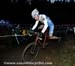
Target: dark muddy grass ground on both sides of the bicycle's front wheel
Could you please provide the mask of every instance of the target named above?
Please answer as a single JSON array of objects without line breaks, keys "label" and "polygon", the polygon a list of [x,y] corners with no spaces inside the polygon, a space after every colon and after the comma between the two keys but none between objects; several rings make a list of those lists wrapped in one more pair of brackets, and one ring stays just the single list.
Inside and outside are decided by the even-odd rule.
[{"label": "dark muddy grass ground on both sides of the bicycle's front wheel", "polygon": [[[24,46],[17,48],[6,48],[0,50],[0,63],[21,62],[21,54]],[[34,62],[49,62],[49,65],[34,66],[74,66],[75,65],[75,36],[68,36],[64,40],[57,42],[51,41],[45,49],[40,52]],[[6,65],[6,64],[5,64]],[[7,65],[11,66],[11,65]],[[15,65],[14,65],[15,66]],[[22,66],[22,65],[19,65]],[[24,65],[27,66],[27,65]],[[29,65],[33,66],[33,65]]]}]

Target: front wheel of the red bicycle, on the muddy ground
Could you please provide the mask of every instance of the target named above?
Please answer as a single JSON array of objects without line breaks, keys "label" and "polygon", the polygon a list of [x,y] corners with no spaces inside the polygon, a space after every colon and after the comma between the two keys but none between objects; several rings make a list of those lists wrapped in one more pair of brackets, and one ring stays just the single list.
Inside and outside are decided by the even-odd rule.
[{"label": "front wheel of the red bicycle, on the muddy ground", "polygon": [[22,60],[23,61],[33,61],[39,52],[39,46],[32,42],[28,44],[23,53],[22,53]]}]

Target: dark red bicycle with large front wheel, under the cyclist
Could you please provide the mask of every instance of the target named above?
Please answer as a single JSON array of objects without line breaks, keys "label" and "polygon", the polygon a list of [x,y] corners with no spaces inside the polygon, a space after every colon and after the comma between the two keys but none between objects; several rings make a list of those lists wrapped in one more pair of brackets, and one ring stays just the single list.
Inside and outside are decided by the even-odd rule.
[{"label": "dark red bicycle with large front wheel, under the cyclist", "polygon": [[39,32],[34,32],[33,35],[35,35],[35,39],[24,48],[22,53],[22,61],[33,61],[39,53],[40,46],[45,47],[46,43],[49,41],[47,32],[45,32],[44,39],[42,40],[39,37]]}]

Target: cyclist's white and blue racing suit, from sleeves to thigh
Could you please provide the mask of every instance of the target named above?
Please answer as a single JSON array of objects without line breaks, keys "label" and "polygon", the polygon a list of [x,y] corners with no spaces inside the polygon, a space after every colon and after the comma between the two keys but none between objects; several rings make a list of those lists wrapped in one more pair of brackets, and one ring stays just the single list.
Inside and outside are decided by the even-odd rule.
[{"label": "cyclist's white and blue racing suit, from sleeves to thigh", "polygon": [[35,22],[34,26],[32,27],[32,30],[35,30],[35,28],[38,26],[39,21],[44,24],[44,27],[41,32],[44,33],[49,27],[49,35],[52,36],[53,31],[54,31],[54,24],[50,20],[50,18],[44,14],[39,15],[39,20]]}]

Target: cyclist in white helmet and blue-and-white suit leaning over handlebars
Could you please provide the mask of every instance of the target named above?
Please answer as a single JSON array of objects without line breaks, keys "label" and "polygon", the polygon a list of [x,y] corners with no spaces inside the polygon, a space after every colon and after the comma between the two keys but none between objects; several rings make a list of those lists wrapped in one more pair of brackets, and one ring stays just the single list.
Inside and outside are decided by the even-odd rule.
[{"label": "cyclist in white helmet and blue-and-white suit leaning over handlebars", "polygon": [[43,24],[39,27],[39,29],[42,28],[41,33],[44,34],[47,28],[49,27],[49,38],[58,39],[58,37],[53,36],[54,24],[48,16],[46,16],[45,14],[39,14],[39,11],[36,8],[31,12],[31,16],[33,19],[36,20],[34,26],[32,27],[32,30],[35,30],[39,22],[41,22]]}]

